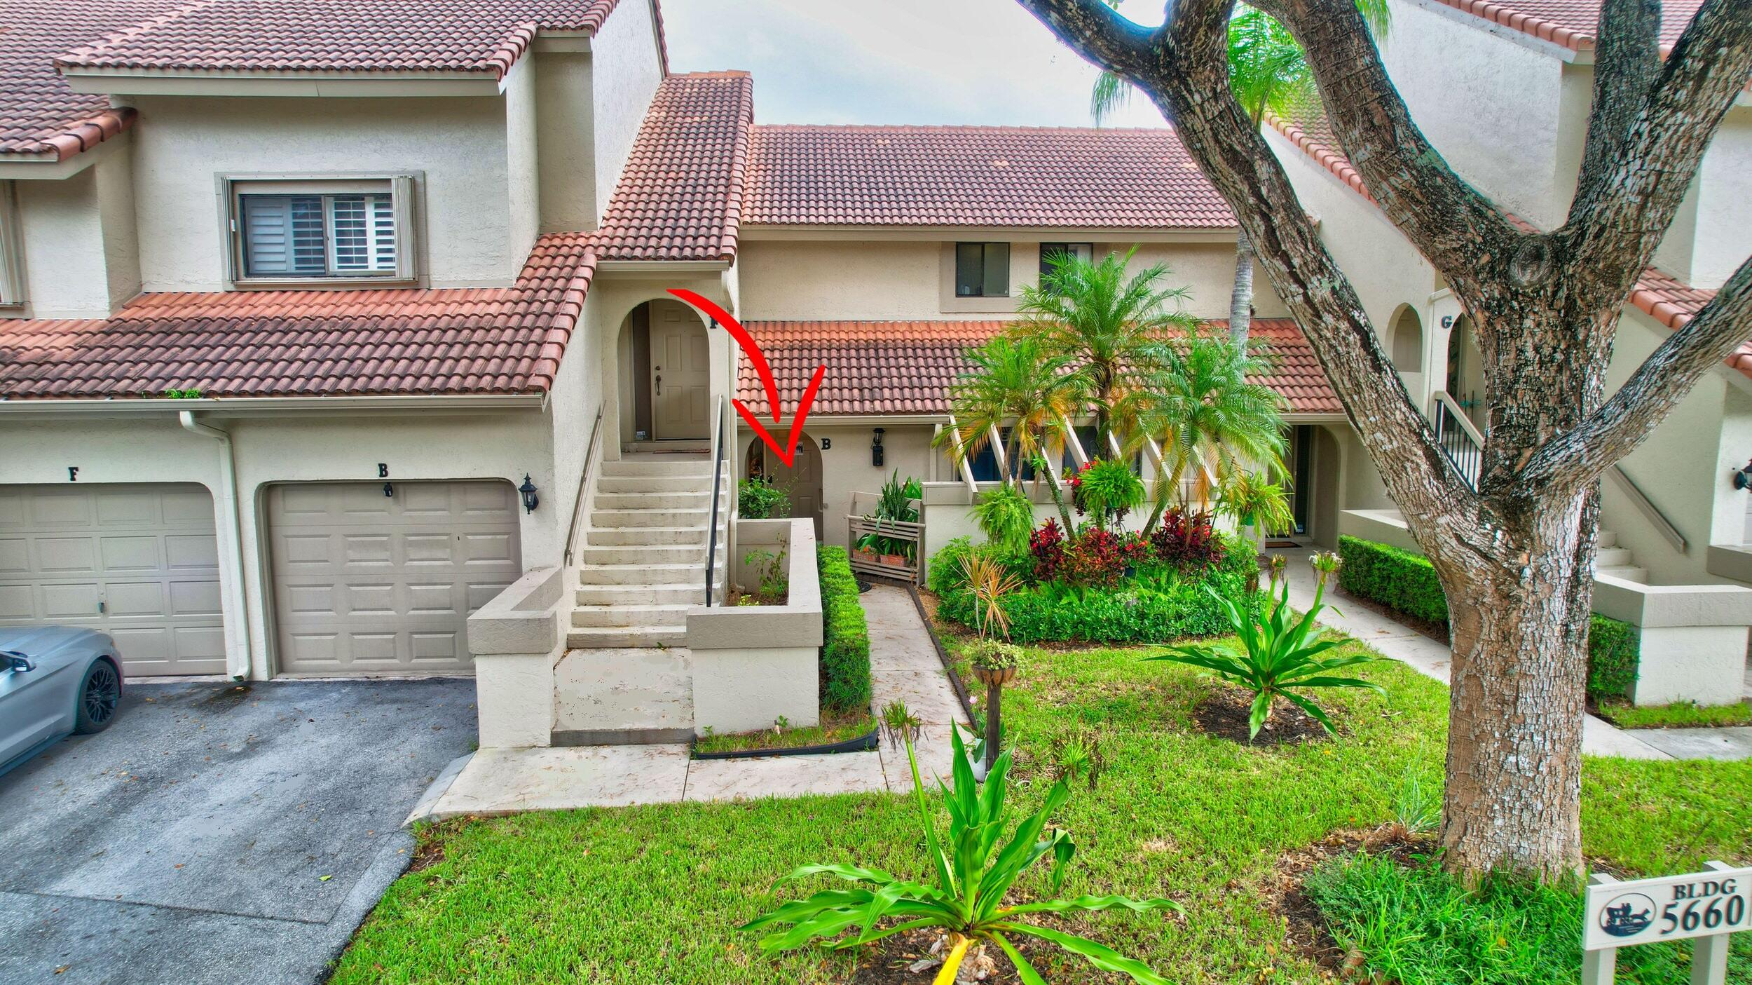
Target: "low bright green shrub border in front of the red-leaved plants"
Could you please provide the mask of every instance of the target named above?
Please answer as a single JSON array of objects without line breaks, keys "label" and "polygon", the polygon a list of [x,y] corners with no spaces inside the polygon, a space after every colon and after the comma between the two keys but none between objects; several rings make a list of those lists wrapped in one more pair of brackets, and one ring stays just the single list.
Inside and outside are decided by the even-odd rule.
[{"label": "low bright green shrub border in front of the red-leaved plants", "polygon": [[[951,542],[930,563],[930,587],[937,592],[937,615],[972,627],[974,594],[960,578],[948,577],[944,556],[967,552]],[[1258,573],[1251,545],[1228,540],[1223,559],[1200,575],[1148,571],[1146,578],[1114,589],[1065,589],[1030,585],[1004,596],[1009,640],[1014,643],[1086,641],[1086,643],[1167,643],[1186,636],[1225,636],[1233,633],[1228,615],[1209,585],[1223,598],[1247,598],[1247,580]],[[941,564],[941,568],[939,568]],[[937,571],[944,571],[937,578]],[[1258,598],[1258,596],[1253,596]]]}]

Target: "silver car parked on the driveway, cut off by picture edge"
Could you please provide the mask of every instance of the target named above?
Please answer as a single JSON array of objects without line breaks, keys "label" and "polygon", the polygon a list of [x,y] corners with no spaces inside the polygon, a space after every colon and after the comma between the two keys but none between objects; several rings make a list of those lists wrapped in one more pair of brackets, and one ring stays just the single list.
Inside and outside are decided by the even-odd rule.
[{"label": "silver car parked on the driveway, cut off by picture edge", "polygon": [[77,626],[0,629],[0,773],[68,733],[102,733],[121,703],[116,641]]}]

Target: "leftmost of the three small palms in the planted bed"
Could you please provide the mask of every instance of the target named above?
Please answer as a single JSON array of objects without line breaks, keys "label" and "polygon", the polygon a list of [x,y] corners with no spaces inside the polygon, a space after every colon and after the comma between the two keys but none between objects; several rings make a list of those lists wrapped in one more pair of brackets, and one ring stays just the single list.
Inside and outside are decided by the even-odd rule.
[{"label": "leftmost of the three small palms in the planted bed", "polygon": [[999,335],[969,349],[967,361],[972,366],[950,387],[955,428],[936,443],[957,442],[972,456],[1009,428],[1004,484],[1020,484],[1023,461],[1063,449],[1063,421],[1088,401],[1088,375],[1072,352],[1025,337]]}]

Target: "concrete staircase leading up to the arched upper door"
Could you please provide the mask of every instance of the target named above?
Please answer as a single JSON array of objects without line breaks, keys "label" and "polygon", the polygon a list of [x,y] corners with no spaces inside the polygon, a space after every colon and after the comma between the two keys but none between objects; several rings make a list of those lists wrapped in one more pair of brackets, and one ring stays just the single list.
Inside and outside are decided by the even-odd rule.
[{"label": "concrete staircase leading up to the arched upper door", "polygon": [[[718,491],[720,585],[727,496],[729,477]],[[687,610],[706,598],[708,454],[629,454],[604,461],[589,515],[566,645],[685,645]]]}]

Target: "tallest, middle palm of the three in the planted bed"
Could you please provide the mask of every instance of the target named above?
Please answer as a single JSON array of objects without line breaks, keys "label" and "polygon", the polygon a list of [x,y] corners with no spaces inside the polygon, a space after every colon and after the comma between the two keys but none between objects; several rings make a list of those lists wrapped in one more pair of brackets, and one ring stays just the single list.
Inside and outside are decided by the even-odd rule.
[{"label": "tallest, middle palm of the three in the planted bed", "polygon": [[[1127,277],[1125,256],[1100,261],[1076,256],[1048,258],[1037,287],[1023,287],[1016,301],[1021,321],[1011,335],[1034,342],[1042,352],[1063,354],[1086,379],[1095,405],[1095,433],[1106,447],[1113,410],[1125,393],[1137,389],[1169,356],[1177,335],[1195,331],[1198,319],[1169,310],[1169,301],[1186,298],[1184,287],[1165,287],[1165,263]],[[1081,408],[1072,414],[1081,412]]]}]

